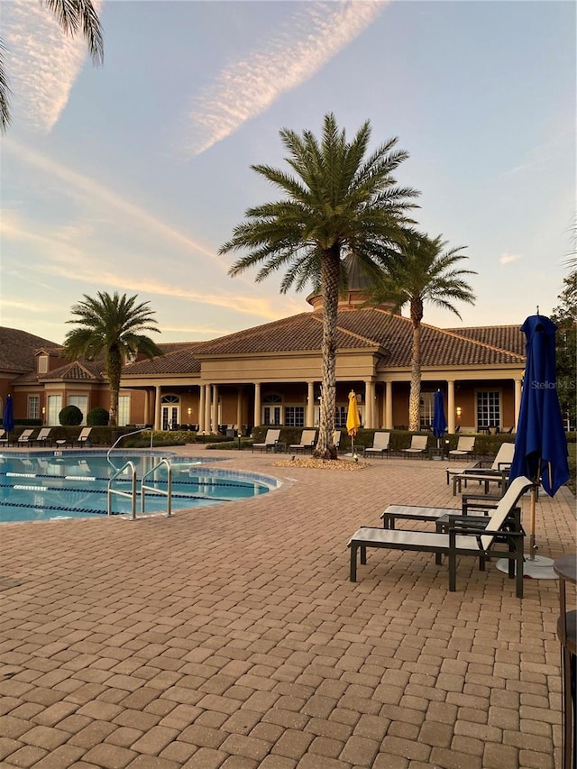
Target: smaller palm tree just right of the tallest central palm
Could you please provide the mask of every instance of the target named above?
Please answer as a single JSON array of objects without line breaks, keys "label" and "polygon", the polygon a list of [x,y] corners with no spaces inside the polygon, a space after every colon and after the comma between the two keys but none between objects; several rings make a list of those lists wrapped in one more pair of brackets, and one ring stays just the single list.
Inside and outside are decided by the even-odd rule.
[{"label": "smaller palm tree just right of the tallest central palm", "polygon": [[463,276],[476,275],[473,270],[460,270],[454,265],[468,259],[464,246],[443,252],[446,241],[442,235],[431,239],[415,230],[406,230],[406,242],[396,258],[389,264],[380,284],[375,288],[373,299],[392,302],[391,312],[398,312],[408,305],[413,326],[411,351],[411,387],[408,400],[408,429],[419,429],[419,405],[421,400],[421,322],[425,302],[450,310],[461,318],[452,301],[474,304],[475,295]]}]

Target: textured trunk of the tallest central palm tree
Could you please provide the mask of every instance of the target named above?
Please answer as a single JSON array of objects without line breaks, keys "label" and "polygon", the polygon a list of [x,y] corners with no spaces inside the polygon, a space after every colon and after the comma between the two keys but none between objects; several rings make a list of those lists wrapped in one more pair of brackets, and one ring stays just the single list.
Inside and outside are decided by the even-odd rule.
[{"label": "textured trunk of the tallest central palm tree", "polygon": [[323,343],[322,374],[323,392],[321,393],[321,417],[318,441],[314,456],[320,459],[336,459],[333,445],[334,413],[336,407],[335,378],[336,367],[336,318],[339,302],[339,277],[341,254],[338,246],[325,251],[321,259],[321,296],[323,297]]}]

